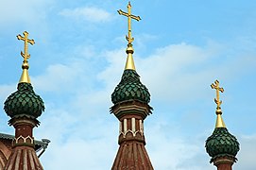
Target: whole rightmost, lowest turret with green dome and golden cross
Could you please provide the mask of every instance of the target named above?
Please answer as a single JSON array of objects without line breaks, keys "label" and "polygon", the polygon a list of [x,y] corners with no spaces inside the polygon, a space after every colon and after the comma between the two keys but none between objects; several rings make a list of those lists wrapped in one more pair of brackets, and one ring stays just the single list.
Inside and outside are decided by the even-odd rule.
[{"label": "whole rightmost, lowest turret with green dome and golden cross", "polygon": [[213,134],[207,139],[205,147],[212,157],[210,162],[213,162],[218,170],[231,170],[232,164],[237,161],[235,156],[239,151],[239,143],[235,136],[230,134],[221,116],[222,101],[219,100],[219,92],[223,93],[224,89],[219,87],[218,80],[215,80],[211,87],[216,90],[214,101],[217,104],[217,118]]}]

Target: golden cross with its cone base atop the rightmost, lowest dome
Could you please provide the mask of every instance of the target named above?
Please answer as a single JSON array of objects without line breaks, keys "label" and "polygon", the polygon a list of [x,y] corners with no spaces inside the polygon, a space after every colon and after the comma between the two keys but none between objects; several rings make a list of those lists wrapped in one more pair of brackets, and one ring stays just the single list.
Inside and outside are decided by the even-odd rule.
[{"label": "golden cross with its cone base atop the rightmost, lowest dome", "polygon": [[217,104],[217,108],[216,108],[217,119],[216,119],[215,128],[226,127],[221,117],[222,111],[221,111],[220,105],[222,104],[222,101],[219,99],[219,92],[224,93],[224,89],[219,87],[219,81],[217,79],[214,81],[213,84],[211,84],[211,87],[212,89],[216,90],[216,98],[214,98],[214,102]]}]

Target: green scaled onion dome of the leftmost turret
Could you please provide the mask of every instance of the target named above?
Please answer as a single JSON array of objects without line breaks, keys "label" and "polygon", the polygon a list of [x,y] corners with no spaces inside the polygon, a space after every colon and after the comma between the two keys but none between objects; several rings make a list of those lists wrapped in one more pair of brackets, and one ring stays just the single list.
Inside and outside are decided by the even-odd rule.
[{"label": "green scaled onion dome of the leftmost turret", "polygon": [[11,93],[5,101],[4,110],[11,117],[27,116],[30,118],[39,117],[43,110],[43,99],[33,91],[30,83],[19,83],[18,91]]}]

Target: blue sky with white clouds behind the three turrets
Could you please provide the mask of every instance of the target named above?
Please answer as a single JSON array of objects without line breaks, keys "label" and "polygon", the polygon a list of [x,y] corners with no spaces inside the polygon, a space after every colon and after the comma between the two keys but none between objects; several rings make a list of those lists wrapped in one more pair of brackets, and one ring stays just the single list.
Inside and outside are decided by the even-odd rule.
[{"label": "blue sky with white clouds behind the three turrets", "polygon": [[[51,144],[45,169],[111,169],[118,121],[111,93],[126,61],[128,1],[9,0],[0,4],[0,101],[16,91],[28,31],[29,75],[46,110],[37,139]],[[151,93],[146,149],[157,170],[215,169],[204,144],[215,124],[217,78],[224,121],[241,144],[234,169],[252,170],[256,152],[256,3],[131,1],[134,59]],[[3,106],[3,105],[2,105]],[[0,111],[1,132],[14,134]]]}]

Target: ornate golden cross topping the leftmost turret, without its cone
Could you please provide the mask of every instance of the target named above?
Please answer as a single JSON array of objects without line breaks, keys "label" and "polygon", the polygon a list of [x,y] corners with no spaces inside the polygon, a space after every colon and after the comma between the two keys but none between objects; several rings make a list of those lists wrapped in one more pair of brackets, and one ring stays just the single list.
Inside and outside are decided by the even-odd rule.
[{"label": "ornate golden cross topping the leftmost turret, without its cone", "polygon": [[[25,42],[24,44],[24,53],[21,51],[21,55],[22,57],[24,58],[24,62],[27,62],[27,59],[30,58],[30,55],[28,54],[28,43],[30,43],[31,45],[33,45],[35,43],[34,40],[29,40],[27,37],[28,37],[28,32],[24,31],[23,32],[23,36],[21,36],[20,34],[17,35],[17,39],[18,40],[22,40]],[[27,43],[28,42],[28,43]]]}]

